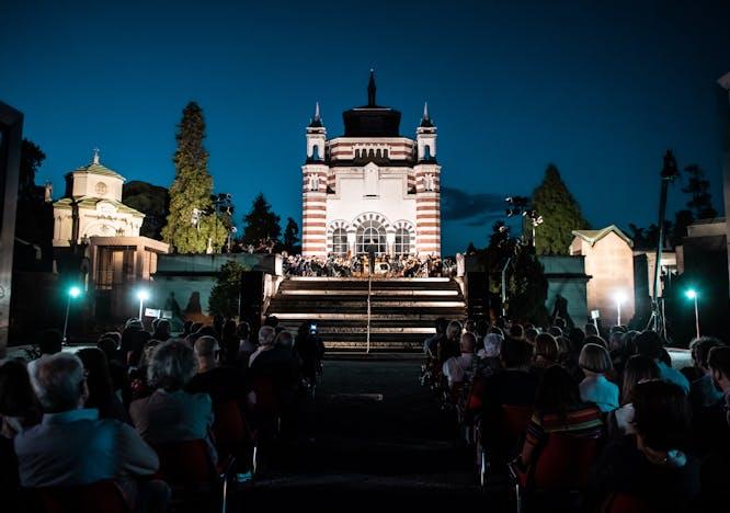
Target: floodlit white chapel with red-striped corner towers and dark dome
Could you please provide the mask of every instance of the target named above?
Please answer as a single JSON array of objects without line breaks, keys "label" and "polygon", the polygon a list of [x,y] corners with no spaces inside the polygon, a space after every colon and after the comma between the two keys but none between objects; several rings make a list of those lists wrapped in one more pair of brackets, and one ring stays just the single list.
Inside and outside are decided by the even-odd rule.
[{"label": "floodlit white chapel with red-striped corner towers and dark dome", "polygon": [[319,104],[307,126],[303,171],[303,254],[441,255],[441,166],[427,104],[415,138],[400,112],[376,103],[345,111],[344,135],[328,139]]}]

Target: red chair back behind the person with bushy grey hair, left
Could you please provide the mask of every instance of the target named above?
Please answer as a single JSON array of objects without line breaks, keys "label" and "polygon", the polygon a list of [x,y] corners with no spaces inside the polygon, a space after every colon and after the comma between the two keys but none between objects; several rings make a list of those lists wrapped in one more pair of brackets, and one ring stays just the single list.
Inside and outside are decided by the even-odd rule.
[{"label": "red chair back behind the person with bushy grey hair, left", "polygon": [[208,444],[204,440],[156,444],[162,479],[171,486],[202,486],[215,481]]}]

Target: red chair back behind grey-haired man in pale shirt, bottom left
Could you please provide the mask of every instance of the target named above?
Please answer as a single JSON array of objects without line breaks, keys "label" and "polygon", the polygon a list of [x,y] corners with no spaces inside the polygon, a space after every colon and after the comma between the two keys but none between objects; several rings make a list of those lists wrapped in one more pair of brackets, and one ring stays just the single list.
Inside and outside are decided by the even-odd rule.
[{"label": "red chair back behind grey-haired man in pale shirt, bottom left", "polygon": [[129,504],[113,481],[77,487],[31,488],[31,511],[37,513],[129,513]]}]

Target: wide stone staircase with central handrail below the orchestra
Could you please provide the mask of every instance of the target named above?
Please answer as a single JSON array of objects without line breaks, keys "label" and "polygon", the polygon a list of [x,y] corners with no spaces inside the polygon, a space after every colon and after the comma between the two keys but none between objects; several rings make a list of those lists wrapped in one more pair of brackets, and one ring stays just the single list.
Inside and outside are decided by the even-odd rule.
[{"label": "wide stone staircase with central handrail below the orchestra", "polygon": [[[271,299],[266,315],[296,332],[317,323],[328,350],[365,351],[367,345],[366,278],[288,277]],[[464,320],[466,304],[450,278],[373,278],[370,351],[422,351],[438,317]]]}]

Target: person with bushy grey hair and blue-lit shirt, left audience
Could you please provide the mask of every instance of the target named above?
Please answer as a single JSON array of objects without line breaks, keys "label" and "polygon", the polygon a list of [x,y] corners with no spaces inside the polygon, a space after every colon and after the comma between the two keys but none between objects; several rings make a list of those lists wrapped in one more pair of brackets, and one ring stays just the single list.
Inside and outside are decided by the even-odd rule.
[{"label": "person with bushy grey hair and blue-lit shirt, left audience", "polygon": [[133,401],[129,414],[139,434],[149,444],[205,440],[213,424],[210,396],[190,394],[184,387],[195,374],[193,350],[182,341],[171,340],[157,346],[147,368],[153,392]]}]

